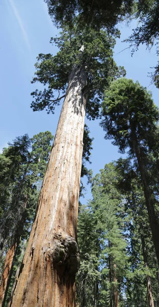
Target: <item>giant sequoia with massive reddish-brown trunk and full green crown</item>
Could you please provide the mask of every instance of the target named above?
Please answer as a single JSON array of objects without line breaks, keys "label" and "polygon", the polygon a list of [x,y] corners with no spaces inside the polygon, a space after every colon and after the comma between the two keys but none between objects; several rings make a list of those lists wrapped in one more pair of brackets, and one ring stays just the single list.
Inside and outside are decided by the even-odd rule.
[{"label": "giant sequoia with massive reddish-brown trunk and full green crown", "polygon": [[82,32],[74,20],[74,26],[65,26],[53,41],[60,51],[54,57],[39,55],[33,82],[40,81],[48,87],[43,93],[33,93],[36,101],[32,107],[34,111],[46,107],[54,113],[62,97],[54,99],[53,90],[62,91],[65,100],[12,307],[74,306],[85,111],[88,117],[98,115],[103,87],[121,74],[112,58],[115,40],[103,30]]}]

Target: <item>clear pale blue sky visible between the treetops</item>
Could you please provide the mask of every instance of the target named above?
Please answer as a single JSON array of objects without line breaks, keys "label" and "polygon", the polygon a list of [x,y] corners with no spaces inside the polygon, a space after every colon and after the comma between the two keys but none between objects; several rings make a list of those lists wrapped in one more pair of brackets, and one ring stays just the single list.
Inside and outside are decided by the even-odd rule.
[{"label": "clear pale blue sky visible between the treetops", "polygon": [[[40,85],[30,83],[34,72],[34,63],[39,53],[56,54],[57,49],[49,44],[51,36],[58,32],[52,25],[43,0],[3,0],[0,3],[0,81],[1,81],[1,119],[0,119],[0,150],[17,136],[28,133],[30,137],[40,131],[49,130],[56,133],[60,115],[60,107],[55,115],[33,112],[30,108],[30,93]],[[155,50],[146,50],[145,46],[131,57],[130,50],[120,52],[128,47],[122,40],[127,38],[133,22],[127,27],[120,25],[121,38],[117,40],[114,59],[118,65],[126,69],[127,78],[139,80],[143,86],[152,91],[154,102],[158,103],[158,90],[150,84],[147,76],[157,62]],[[120,53],[119,53],[120,52]],[[103,139],[104,133],[98,121],[87,121],[91,137],[94,137],[91,157],[91,168],[94,175],[105,163],[118,159],[121,155],[110,141]],[[87,198],[91,197],[88,188]]]}]

